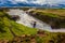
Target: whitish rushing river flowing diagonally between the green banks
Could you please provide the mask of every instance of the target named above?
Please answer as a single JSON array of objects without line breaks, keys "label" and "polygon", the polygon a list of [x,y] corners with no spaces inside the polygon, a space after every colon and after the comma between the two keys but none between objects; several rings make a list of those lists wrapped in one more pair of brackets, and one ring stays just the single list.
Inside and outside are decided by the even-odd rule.
[{"label": "whitish rushing river flowing diagonally between the green banks", "polygon": [[16,23],[23,24],[24,26],[32,28],[32,23],[36,22],[36,28],[37,29],[42,29],[42,30],[48,30],[50,32],[65,32],[65,29],[52,29],[51,26],[48,24],[26,14],[23,10],[20,9],[11,9],[10,12],[8,12],[10,15],[18,15],[21,17],[20,20]]}]

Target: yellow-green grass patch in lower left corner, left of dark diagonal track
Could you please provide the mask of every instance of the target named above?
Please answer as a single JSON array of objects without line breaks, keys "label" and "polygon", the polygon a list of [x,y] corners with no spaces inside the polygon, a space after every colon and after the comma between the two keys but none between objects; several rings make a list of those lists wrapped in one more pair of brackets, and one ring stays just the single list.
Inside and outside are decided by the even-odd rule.
[{"label": "yellow-green grass patch in lower left corner, left of dark diagonal track", "polygon": [[12,40],[13,39],[13,35],[12,33],[10,32],[9,28],[5,27],[4,28],[4,31],[5,32],[0,32],[0,40]]}]

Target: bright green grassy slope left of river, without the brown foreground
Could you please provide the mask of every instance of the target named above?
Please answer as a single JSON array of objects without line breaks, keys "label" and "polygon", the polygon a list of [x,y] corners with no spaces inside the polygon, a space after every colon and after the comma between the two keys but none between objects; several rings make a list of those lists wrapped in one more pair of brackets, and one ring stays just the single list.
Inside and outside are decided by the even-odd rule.
[{"label": "bright green grassy slope left of river, without the brown foreground", "polygon": [[13,34],[10,29],[12,29],[16,35],[36,33],[36,29],[20,25],[10,17],[6,13],[0,12],[0,39],[12,39]]}]

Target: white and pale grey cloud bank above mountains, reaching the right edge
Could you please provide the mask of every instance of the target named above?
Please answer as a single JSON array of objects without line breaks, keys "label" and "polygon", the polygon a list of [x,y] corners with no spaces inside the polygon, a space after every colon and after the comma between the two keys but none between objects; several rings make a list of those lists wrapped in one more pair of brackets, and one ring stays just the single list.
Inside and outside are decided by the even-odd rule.
[{"label": "white and pale grey cloud bank above mountains, reaching the right edge", "polygon": [[14,0],[15,2],[26,2],[26,3],[35,3],[35,4],[56,4],[56,3],[63,3],[65,0]]}]

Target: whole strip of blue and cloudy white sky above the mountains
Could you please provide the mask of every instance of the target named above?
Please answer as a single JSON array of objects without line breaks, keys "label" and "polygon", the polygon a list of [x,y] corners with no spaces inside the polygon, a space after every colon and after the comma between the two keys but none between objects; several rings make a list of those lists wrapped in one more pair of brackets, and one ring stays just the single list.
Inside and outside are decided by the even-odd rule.
[{"label": "whole strip of blue and cloudy white sky above the mountains", "polygon": [[0,0],[0,4],[3,4],[5,3],[6,1],[11,1],[13,4],[16,4],[18,2],[23,2],[23,3],[34,3],[34,4],[46,4],[46,3],[49,3],[49,4],[57,4],[57,3],[63,3],[65,4],[65,0]]}]

